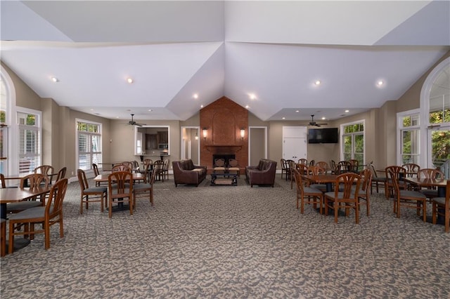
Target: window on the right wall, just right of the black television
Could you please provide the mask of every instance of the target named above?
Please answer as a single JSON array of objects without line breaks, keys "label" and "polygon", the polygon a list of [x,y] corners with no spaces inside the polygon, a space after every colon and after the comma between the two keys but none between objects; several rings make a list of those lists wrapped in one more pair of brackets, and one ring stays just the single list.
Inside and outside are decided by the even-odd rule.
[{"label": "window on the right wall, just right of the black television", "polygon": [[358,160],[364,165],[364,121],[341,126],[342,160]]}]

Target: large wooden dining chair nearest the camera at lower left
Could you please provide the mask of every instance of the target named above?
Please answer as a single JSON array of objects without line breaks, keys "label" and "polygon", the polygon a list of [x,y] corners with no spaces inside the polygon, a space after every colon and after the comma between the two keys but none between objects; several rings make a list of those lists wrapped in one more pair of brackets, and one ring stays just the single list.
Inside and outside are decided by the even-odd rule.
[{"label": "large wooden dining chair nearest the camera at lower left", "polygon": [[[34,239],[34,234],[44,233],[45,248],[50,248],[50,227],[58,223],[60,238],[64,237],[63,225],[63,200],[68,187],[68,179],[63,178],[55,182],[51,187],[49,199],[45,206],[28,208],[25,211],[11,215],[9,222],[9,240],[8,253],[13,253],[14,237],[23,235]],[[42,227],[41,230],[35,230],[35,225]],[[24,230],[18,230],[18,227],[24,227]]]}]

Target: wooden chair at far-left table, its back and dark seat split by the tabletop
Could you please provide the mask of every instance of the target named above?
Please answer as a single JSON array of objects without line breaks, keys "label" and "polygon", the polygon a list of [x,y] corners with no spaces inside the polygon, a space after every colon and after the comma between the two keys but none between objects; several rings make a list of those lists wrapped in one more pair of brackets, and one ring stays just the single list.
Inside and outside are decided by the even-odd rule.
[{"label": "wooden chair at far-left table, its back and dark seat split by the tabletop", "polygon": [[[36,187],[44,187],[48,188],[50,184],[50,179],[47,175],[42,173],[31,173],[29,175],[25,175],[20,179],[20,188],[24,188],[29,186],[30,189]],[[19,213],[21,211],[25,211],[28,208],[34,208],[37,206],[44,206],[46,201],[46,194],[42,194],[39,197],[32,197],[25,201],[11,202],[6,204],[6,213]]]}]

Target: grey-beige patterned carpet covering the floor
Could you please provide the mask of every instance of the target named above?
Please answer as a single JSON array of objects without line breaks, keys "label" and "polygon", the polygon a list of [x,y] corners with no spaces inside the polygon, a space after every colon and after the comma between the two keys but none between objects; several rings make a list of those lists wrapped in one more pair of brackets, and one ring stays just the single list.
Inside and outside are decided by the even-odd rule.
[{"label": "grey-beige patterned carpet covering the floor", "polygon": [[[91,185],[94,185],[90,181]],[[64,202],[65,237],[44,237],[1,258],[1,298],[449,298],[450,234],[384,194],[340,217],[295,208],[295,189],[174,187],[155,182],[129,211],[79,214],[79,185]],[[431,207],[428,208],[431,211]],[[430,212],[429,212],[430,213]]]}]

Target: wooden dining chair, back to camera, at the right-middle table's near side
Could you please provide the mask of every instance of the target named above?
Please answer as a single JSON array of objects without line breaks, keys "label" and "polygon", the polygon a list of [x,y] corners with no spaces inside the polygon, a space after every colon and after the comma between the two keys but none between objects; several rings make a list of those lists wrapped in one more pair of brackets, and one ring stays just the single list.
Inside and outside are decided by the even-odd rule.
[{"label": "wooden dining chair, back to camera, at the right-middle table's near side", "polygon": [[338,215],[340,208],[345,209],[345,215],[349,215],[349,210],[354,209],[355,222],[359,224],[359,185],[361,176],[356,173],[342,173],[338,175],[335,181],[335,190],[326,192],[325,199],[325,215],[328,215],[328,209],[334,211],[335,223],[338,223]]}]

